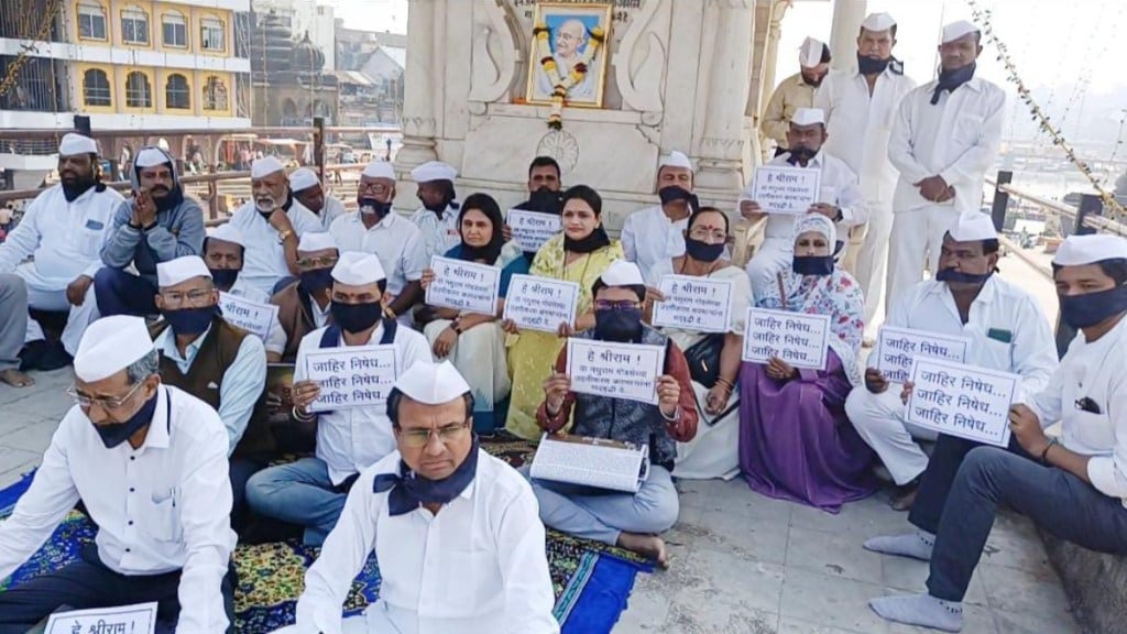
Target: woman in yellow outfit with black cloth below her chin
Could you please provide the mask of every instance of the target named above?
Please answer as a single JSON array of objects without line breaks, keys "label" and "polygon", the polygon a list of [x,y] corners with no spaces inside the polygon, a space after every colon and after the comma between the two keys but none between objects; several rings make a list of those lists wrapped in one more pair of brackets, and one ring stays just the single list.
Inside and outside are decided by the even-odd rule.
[{"label": "woman in yellow outfit with black cloth below her chin", "polygon": [[579,284],[576,323],[560,324],[554,334],[517,331],[511,322],[504,324],[514,335],[508,351],[513,393],[505,428],[529,440],[538,440],[542,433],[536,424],[536,407],[543,400],[543,382],[564,346],[564,337],[595,327],[591,289],[612,262],[623,257],[622,245],[611,241],[603,228],[603,199],[597,192],[576,185],[564,193],[562,200],[564,230],[540,248],[530,273]]}]

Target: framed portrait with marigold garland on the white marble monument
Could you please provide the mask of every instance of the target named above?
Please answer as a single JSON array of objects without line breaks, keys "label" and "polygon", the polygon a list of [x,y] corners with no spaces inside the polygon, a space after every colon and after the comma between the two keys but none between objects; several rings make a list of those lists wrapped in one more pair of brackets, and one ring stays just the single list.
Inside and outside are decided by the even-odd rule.
[{"label": "framed portrait with marigold garland on the white marble monument", "polygon": [[536,5],[526,103],[603,106],[611,9],[610,3]]}]

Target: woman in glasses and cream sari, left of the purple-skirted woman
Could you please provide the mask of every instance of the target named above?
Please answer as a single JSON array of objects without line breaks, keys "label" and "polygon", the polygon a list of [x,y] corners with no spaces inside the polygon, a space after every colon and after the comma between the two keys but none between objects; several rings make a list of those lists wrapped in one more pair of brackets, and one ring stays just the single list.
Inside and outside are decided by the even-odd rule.
[{"label": "woman in glasses and cream sari, left of the purple-skirted woman", "polygon": [[676,275],[728,280],[731,282],[731,316],[727,333],[662,328],[662,333],[685,351],[692,375],[693,395],[701,425],[691,442],[677,443],[680,478],[730,479],[739,473],[736,447],[739,440],[739,367],[744,347],[744,319],[752,298],[752,284],[743,268],[724,258],[728,241],[728,217],[706,206],[689,218],[685,255],[673,258]]}]

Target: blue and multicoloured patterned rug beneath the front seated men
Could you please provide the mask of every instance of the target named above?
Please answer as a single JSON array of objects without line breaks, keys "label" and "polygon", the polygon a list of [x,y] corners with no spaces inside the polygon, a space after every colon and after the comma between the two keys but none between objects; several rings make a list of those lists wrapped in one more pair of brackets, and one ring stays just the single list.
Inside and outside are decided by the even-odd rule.
[{"label": "blue and multicoloured patterned rug beneath the front seated men", "polygon": [[[482,438],[481,446],[514,467],[531,460],[534,451],[531,443],[503,434]],[[16,501],[30,485],[32,475],[0,491],[0,518],[11,513]],[[0,580],[0,590],[66,565],[78,558],[82,545],[92,540],[94,526],[80,513],[72,512],[11,579]],[[234,553],[239,574],[236,631],[263,634],[292,624],[305,570],[316,558],[316,548],[298,541],[239,546]],[[650,564],[625,551],[554,531],[548,534],[548,566],[556,592],[554,614],[565,634],[610,632],[627,607],[635,575],[653,570]],[[376,599],[379,591],[380,569],[373,557],[353,581],[345,614],[360,614]]]}]

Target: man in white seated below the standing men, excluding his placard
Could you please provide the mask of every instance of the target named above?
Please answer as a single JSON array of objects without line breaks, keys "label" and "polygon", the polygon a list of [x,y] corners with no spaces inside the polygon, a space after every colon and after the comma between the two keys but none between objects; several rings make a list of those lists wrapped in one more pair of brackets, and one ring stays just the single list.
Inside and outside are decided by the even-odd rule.
[{"label": "man in white seated below the standing men, excluding his placard", "polygon": [[[833,220],[838,236],[849,236],[851,227],[867,222],[869,214],[862,202],[857,174],[844,161],[822,149],[828,138],[825,114],[818,108],[799,108],[790,121],[787,138],[790,149],[767,165],[822,170],[818,202],[807,213],[820,213]],[[758,298],[763,297],[767,284],[778,283],[775,275],[779,271],[790,266],[795,252],[795,217],[762,209],[752,200],[753,184],[754,179],[739,197],[739,213],[752,222],[767,219],[763,244],[747,263],[752,291]],[[835,255],[841,257],[844,246],[844,241],[838,240]]]}]

